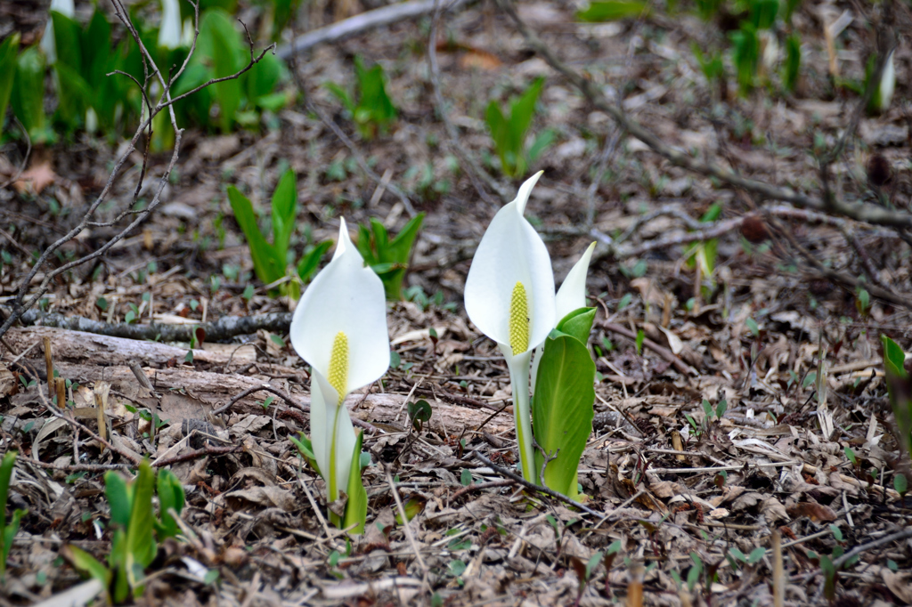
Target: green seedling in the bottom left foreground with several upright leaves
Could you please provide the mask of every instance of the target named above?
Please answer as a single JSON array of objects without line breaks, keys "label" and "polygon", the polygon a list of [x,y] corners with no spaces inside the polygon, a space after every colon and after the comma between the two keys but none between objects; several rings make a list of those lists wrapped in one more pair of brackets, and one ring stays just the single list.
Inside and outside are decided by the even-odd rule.
[{"label": "green seedling in the bottom left foreground with several upright leaves", "polygon": [[116,472],[105,475],[105,493],[111,510],[114,539],[107,564],[72,544],[61,550],[61,556],[78,571],[100,581],[114,603],[130,602],[145,589],[145,570],[158,551],[158,540],[177,535],[174,516],[180,516],[184,505],[181,483],[169,470],[158,475],[160,514],[152,511],[155,473],[148,460],[140,464],[137,477],[127,482]]}]

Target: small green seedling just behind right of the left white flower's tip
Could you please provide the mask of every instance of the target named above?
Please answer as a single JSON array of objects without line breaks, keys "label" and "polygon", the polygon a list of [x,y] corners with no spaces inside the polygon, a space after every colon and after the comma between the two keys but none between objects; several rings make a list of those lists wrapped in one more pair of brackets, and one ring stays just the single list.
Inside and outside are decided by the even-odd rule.
[{"label": "small green seedling just behind right of the left white flower's tip", "polygon": [[355,246],[364,261],[383,281],[383,290],[389,300],[398,302],[402,299],[402,282],[409,269],[411,247],[423,221],[424,213],[419,213],[392,240],[389,239],[386,227],[374,218],[370,219],[369,228],[366,225],[358,226],[358,242]]}]

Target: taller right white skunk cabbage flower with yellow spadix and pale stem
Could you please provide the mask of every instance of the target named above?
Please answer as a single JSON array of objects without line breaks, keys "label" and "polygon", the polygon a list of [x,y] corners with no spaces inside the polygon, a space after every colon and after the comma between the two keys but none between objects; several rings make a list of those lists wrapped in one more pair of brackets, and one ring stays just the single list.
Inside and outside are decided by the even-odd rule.
[{"label": "taller right white skunk cabbage flower with yellow spadix and pale stem", "polygon": [[523,217],[536,173],[516,199],[491,221],[465,282],[465,309],[472,323],[497,342],[510,368],[513,417],[523,476],[535,482],[529,365],[532,353],[554,328],[554,274],[538,232]]}]

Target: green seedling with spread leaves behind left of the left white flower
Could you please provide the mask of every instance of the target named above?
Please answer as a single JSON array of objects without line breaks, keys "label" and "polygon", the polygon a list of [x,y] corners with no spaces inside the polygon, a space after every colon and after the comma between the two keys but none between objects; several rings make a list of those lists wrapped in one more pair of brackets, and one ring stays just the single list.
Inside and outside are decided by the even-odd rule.
[{"label": "green seedling with spread leaves behind left of the left white flower", "polygon": [[[256,277],[264,284],[274,285],[275,288],[275,284],[285,280],[288,275],[288,245],[291,242],[292,232],[295,231],[295,218],[297,217],[295,172],[293,170],[285,171],[273,192],[272,244],[266,242],[263,232],[260,231],[254,213],[254,205],[250,199],[234,186],[229,186],[228,201],[231,202],[234,219],[244,231],[244,237],[250,247]],[[331,246],[331,241],[325,241],[310,248],[297,263],[290,280],[278,285],[278,293],[287,294],[294,299],[300,297],[301,285],[310,280],[323,255]]]}]

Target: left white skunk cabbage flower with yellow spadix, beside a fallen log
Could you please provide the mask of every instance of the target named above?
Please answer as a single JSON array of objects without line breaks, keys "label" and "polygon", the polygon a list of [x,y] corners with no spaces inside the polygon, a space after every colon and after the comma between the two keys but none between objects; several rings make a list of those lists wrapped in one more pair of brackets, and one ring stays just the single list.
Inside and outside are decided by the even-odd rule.
[{"label": "left white skunk cabbage flower with yellow spadix, beside a fallen log", "polygon": [[345,220],[333,259],[295,309],[291,344],[313,372],[310,440],[330,501],[348,486],[355,428],[345,397],[377,381],[389,367],[383,283],[348,237]]}]

